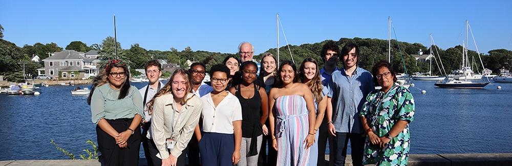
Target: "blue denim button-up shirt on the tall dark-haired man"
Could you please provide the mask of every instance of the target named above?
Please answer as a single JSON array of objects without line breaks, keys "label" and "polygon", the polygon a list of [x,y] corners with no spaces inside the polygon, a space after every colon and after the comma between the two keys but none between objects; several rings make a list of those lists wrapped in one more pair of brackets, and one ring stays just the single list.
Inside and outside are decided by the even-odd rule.
[{"label": "blue denim button-up shirt on the tall dark-haired man", "polygon": [[363,133],[359,115],[365,98],[375,87],[370,72],[357,67],[349,77],[345,68],[332,73],[328,80],[329,93],[332,98],[332,122],[336,132]]}]

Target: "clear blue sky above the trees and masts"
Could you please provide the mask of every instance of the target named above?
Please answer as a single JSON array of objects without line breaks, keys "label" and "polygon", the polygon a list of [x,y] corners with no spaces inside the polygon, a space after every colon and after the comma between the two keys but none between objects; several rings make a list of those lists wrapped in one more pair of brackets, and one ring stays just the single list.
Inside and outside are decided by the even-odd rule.
[{"label": "clear blue sky above the trees and masts", "polygon": [[[255,54],[276,47],[276,13],[289,44],[339,38],[388,39],[388,16],[399,41],[443,50],[461,45],[470,22],[480,53],[512,50],[512,1],[3,1],[4,39],[18,46],[71,41],[88,45],[114,36],[123,49],[236,53],[249,41]],[[394,33],[392,32],[392,38]],[[476,50],[469,37],[468,47]],[[286,42],[280,33],[280,46]]]}]

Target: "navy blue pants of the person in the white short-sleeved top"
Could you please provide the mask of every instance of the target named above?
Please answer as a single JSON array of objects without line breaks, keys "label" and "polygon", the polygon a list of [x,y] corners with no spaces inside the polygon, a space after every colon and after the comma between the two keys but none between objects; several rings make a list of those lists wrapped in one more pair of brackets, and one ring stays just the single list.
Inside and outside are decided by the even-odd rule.
[{"label": "navy blue pants of the person in the white short-sleeved top", "polygon": [[233,165],[233,134],[204,133],[198,146],[203,166]]}]

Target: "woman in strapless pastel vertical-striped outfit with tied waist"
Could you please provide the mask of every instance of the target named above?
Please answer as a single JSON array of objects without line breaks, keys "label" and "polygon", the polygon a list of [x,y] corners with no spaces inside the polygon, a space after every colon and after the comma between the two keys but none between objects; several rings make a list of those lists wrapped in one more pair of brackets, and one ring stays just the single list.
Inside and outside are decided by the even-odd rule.
[{"label": "woman in strapless pastel vertical-striped outfit with tied waist", "polygon": [[297,69],[283,62],[276,87],[270,90],[270,132],[272,147],[278,151],[277,165],[306,165],[314,143],[315,107],[306,84],[297,83]]}]

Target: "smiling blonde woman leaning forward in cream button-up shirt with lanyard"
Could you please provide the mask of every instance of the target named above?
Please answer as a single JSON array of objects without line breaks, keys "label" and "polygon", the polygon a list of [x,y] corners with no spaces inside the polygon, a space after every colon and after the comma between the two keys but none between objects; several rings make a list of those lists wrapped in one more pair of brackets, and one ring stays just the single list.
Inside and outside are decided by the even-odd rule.
[{"label": "smiling blonde woman leaning forward in cream button-up shirt with lanyard", "polygon": [[[178,68],[147,104],[152,115],[153,142],[148,148],[154,165],[185,165],[184,150],[199,123],[201,99],[192,93],[187,70]],[[151,138],[150,138],[151,139]]]}]

